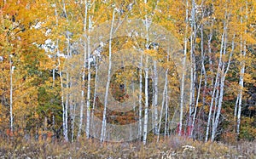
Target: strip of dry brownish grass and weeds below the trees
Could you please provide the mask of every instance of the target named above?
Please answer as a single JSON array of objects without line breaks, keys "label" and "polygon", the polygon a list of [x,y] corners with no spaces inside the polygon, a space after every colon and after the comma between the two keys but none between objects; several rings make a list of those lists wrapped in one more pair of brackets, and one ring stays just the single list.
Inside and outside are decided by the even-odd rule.
[{"label": "strip of dry brownish grass and weeds below the trees", "polygon": [[253,158],[256,141],[235,144],[201,142],[174,136],[141,142],[99,143],[95,139],[80,139],[73,143],[48,140],[0,139],[0,158]]}]

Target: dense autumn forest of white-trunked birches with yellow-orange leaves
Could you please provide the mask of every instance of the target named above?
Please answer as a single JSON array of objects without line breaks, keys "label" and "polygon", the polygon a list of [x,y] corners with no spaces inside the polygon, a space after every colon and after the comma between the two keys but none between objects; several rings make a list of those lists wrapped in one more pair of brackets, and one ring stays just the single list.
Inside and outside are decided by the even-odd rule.
[{"label": "dense autumn forest of white-trunked birches with yellow-orange leaves", "polygon": [[253,141],[255,7],[1,1],[1,138]]}]

